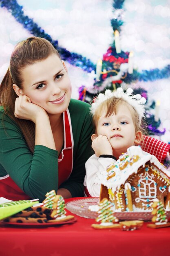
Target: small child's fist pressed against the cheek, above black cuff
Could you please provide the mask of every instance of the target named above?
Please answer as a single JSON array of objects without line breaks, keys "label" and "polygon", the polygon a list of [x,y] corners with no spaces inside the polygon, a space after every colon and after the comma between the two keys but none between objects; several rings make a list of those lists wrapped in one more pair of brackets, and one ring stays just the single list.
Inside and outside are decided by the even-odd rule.
[{"label": "small child's fist pressed against the cheek, above black cuff", "polygon": [[105,135],[99,135],[94,139],[92,142],[92,148],[97,157],[100,155],[113,155],[112,146]]}]

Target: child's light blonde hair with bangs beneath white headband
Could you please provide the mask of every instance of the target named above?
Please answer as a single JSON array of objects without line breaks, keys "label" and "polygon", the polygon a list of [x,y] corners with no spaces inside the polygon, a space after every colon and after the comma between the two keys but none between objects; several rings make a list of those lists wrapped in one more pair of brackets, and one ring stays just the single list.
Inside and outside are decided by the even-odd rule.
[{"label": "child's light blonde hair with bangs beneath white headband", "polygon": [[133,108],[127,101],[125,101],[122,98],[116,98],[112,97],[110,99],[106,99],[103,101],[98,108],[96,108],[95,113],[93,115],[93,124],[95,126],[95,130],[97,130],[97,124],[98,120],[101,117],[102,111],[106,110],[106,115],[105,117],[110,117],[114,113],[117,115],[117,109],[119,108],[120,105],[125,105],[131,112],[132,115],[132,121],[135,126],[135,131],[141,131],[143,134],[146,134],[146,128],[145,128],[145,123],[144,120],[140,120],[139,115],[135,108]]}]

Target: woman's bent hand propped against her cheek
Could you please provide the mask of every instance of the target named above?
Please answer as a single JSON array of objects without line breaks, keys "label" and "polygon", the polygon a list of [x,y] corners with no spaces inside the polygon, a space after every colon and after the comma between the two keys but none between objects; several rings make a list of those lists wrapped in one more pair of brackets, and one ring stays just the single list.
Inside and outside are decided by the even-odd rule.
[{"label": "woman's bent hand propped against her cheek", "polygon": [[15,100],[15,117],[20,119],[31,120],[34,123],[38,116],[47,115],[46,111],[40,106],[33,104],[31,99],[26,95],[20,95]]}]

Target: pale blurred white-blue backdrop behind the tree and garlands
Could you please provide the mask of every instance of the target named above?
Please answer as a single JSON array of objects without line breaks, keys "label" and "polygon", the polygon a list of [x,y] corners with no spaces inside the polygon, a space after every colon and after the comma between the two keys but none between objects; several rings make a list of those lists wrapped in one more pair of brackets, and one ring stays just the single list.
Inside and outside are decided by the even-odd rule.
[{"label": "pale blurred white-blue backdrop behind the tree and garlands", "polygon": [[[23,6],[25,15],[33,18],[53,40],[58,40],[59,46],[82,54],[93,63],[113,43],[112,0],[18,0],[18,4]],[[125,0],[124,10],[121,49],[134,52],[134,67],[141,71],[170,64],[170,0]],[[0,8],[0,81],[14,45],[29,36],[7,9]],[[93,86],[93,76],[66,65],[73,86],[72,97],[77,99],[80,86]],[[170,142],[170,78],[132,84],[139,86],[148,91],[150,101],[160,100],[159,117],[162,128],[166,128],[161,139]]]}]

